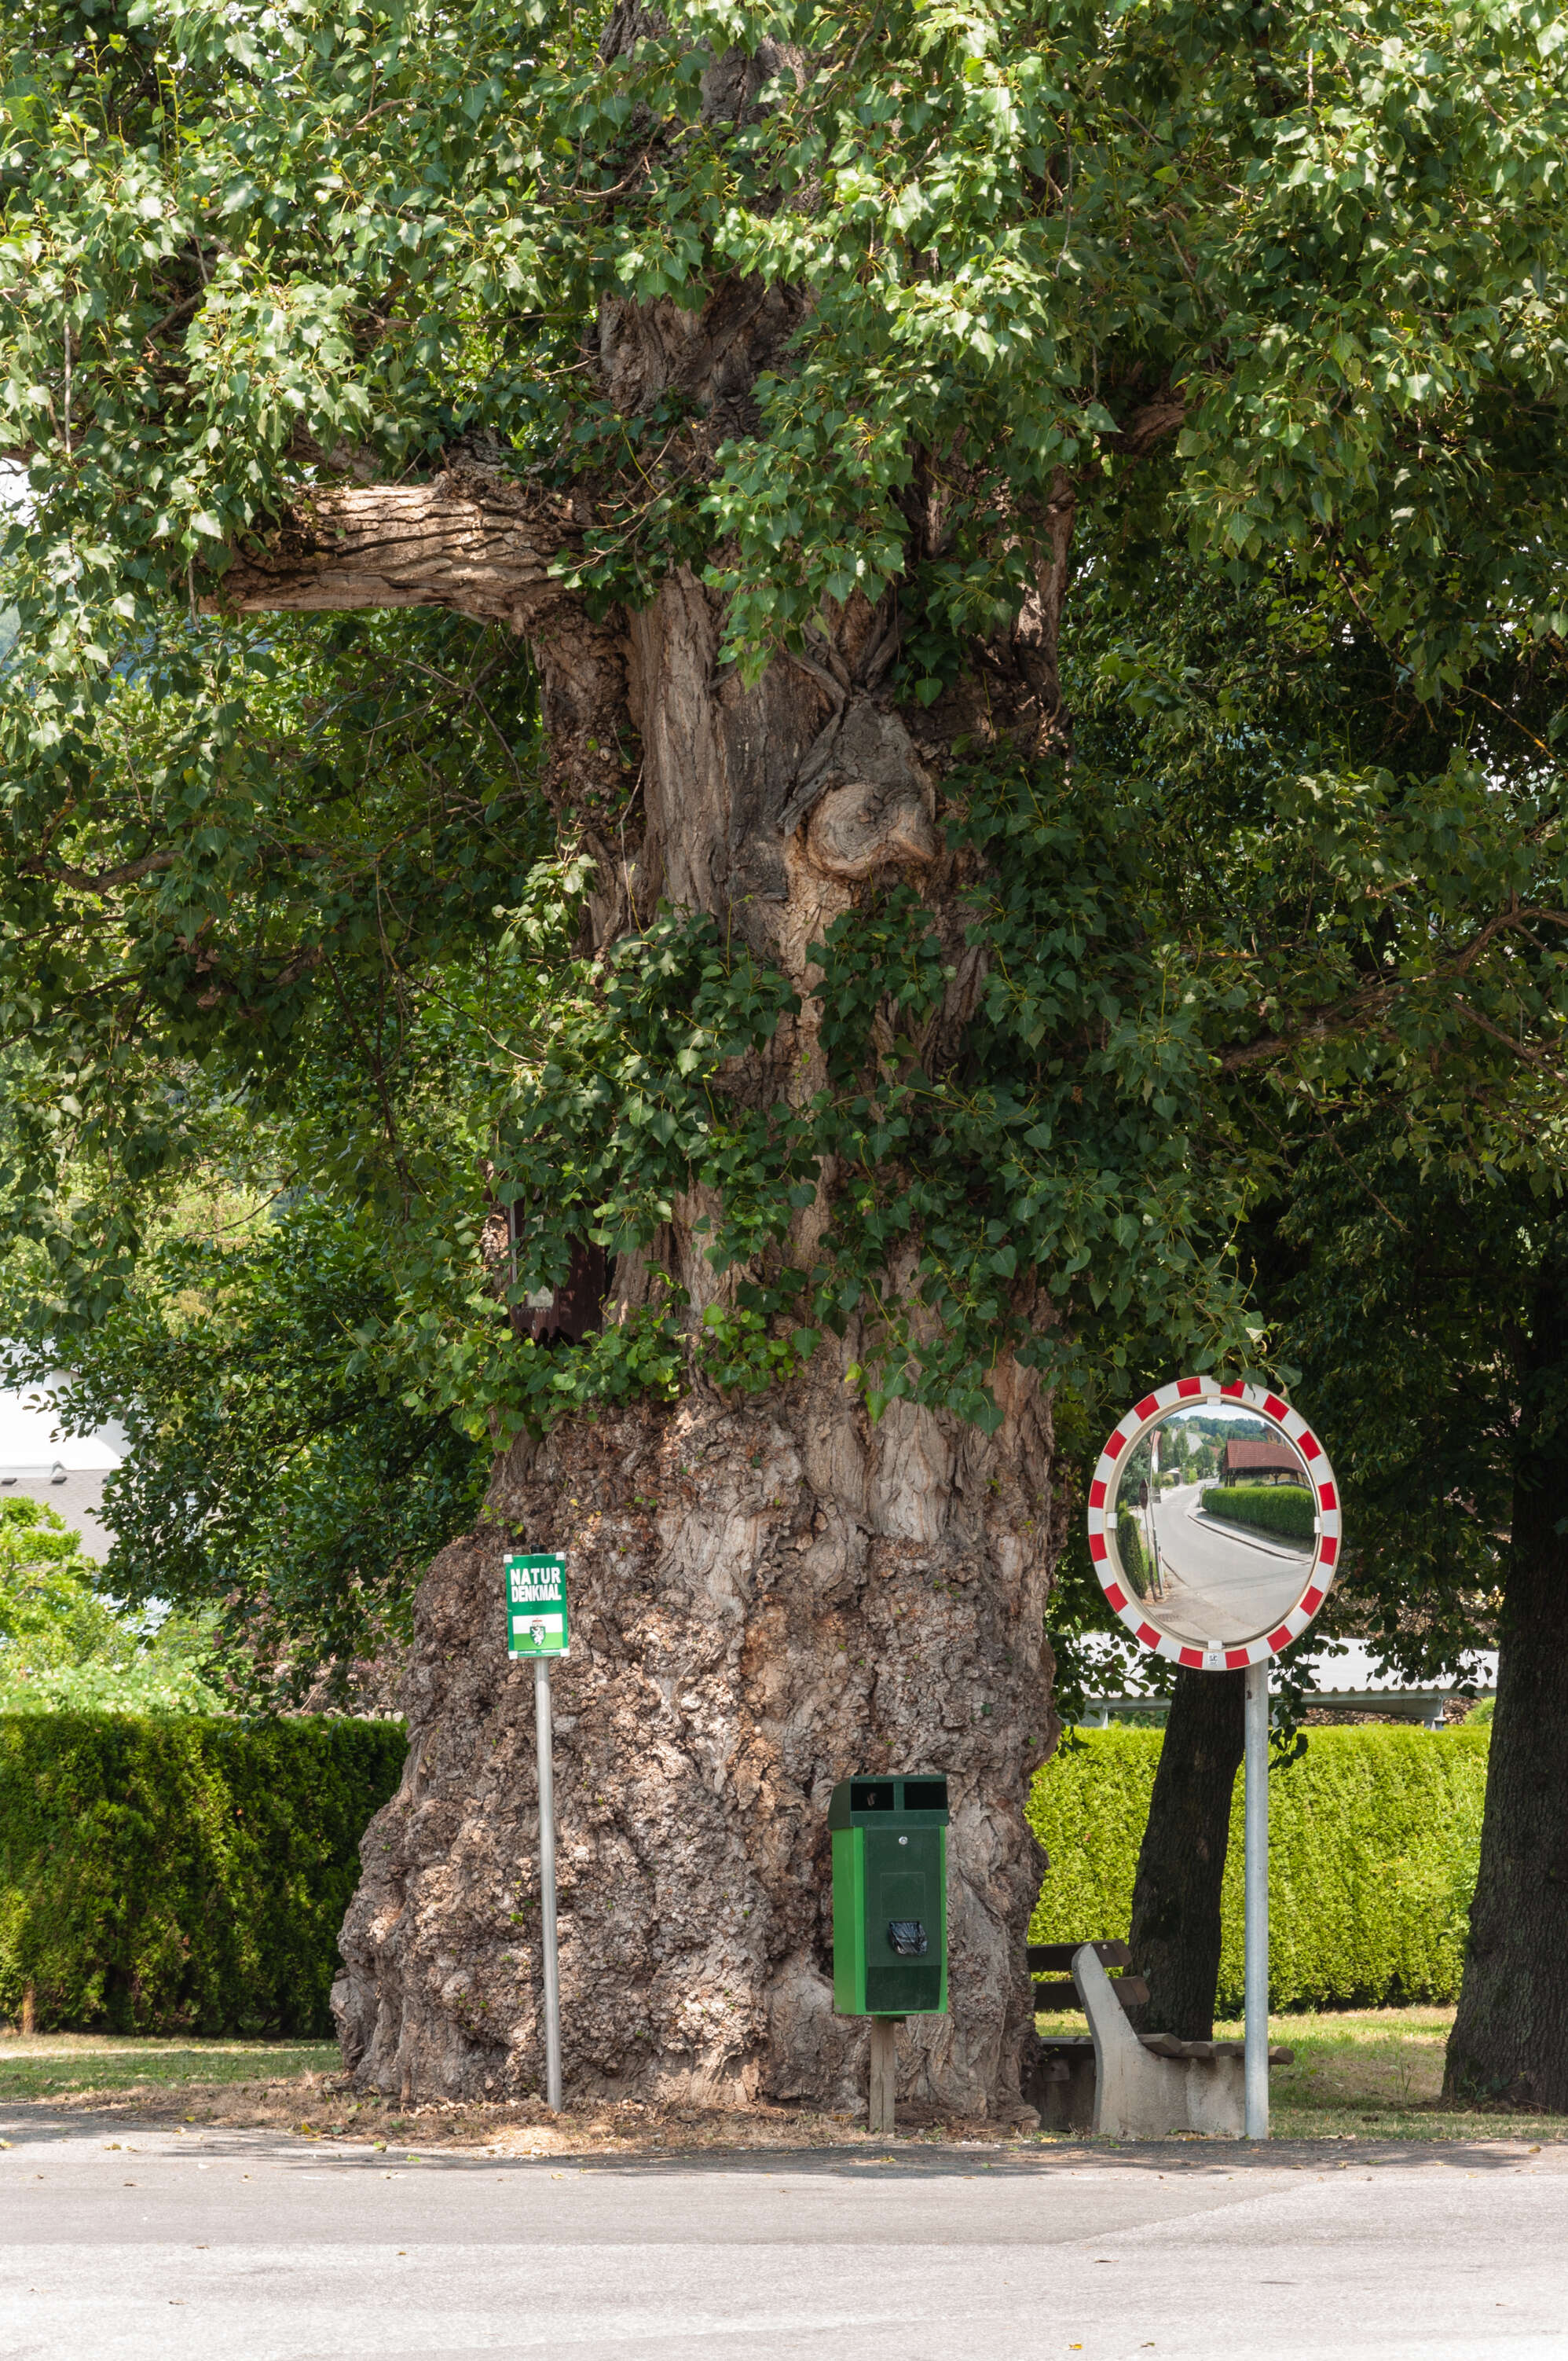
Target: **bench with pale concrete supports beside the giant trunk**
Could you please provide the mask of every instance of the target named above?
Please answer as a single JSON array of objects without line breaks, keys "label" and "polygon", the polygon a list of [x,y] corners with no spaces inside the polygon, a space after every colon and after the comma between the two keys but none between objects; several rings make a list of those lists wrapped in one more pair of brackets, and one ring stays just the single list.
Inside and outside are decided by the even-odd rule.
[{"label": "bench with pale concrete supports beside the giant trunk", "polygon": [[[1082,2009],[1089,2033],[1041,2033],[1025,2097],[1053,2132],[1108,2132],[1115,2139],[1164,2139],[1209,2132],[1240,2139],[1247,2127],[1244,2042],[1183,2042],[1174,2033],[1133,2033],[1126,2009],[1148,2000],[1143,1976],[1126,1974],[1126,1943],[1030,1943],[1039,2009]],[[1108,1969],[1124,1974],[1110,1976]],[[1046,1981],[1070,1969],[1067,1981]],[[1294,2049],[1270,2049],[1289,2066]]]}]

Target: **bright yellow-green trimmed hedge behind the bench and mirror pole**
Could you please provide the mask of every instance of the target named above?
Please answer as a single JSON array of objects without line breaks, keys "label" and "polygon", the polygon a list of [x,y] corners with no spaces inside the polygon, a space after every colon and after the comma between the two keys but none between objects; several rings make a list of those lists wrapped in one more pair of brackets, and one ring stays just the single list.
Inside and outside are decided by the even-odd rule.
[{"label": "bright yellow-green trimmed hedge behind the bench and mirror pole", "polygon": [[[1311,1731],[1268,1780],[1270,2007],[1457,2000],[1481,1853],[1485,1728]],[[1086,1731],[1037,1775],[1051,1856],[1032,1943],[1126,1936],[1159,1731]],[[1242,2007],[1242,1780],[1223,1889],[1219,2012]]]}]

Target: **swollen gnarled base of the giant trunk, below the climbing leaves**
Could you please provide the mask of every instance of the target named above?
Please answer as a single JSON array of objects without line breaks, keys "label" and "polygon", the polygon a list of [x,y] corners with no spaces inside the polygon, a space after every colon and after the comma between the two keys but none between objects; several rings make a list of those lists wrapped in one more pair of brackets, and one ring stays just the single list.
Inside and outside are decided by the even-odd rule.
[{"label": "swollen gnarled base of the giant trunk, below the climbing leaves", "polygon": [[827,1801],[852,1771],[947,1771],[952,2014],[912,2019],[904,2094],[1018,2108],[1051,1735],[1048,1431],[999,1443],[890,1410],[829,1365],[767,1402],[571,1419],[496,1469],[491,1523],[418,1596],[409,1768],[342,1929],[345,2056],[387,2092],[543,2078],[531,1672],[505,1546],[564,1549],[555,1669],[567,2094],[864,2101],[831,2009]]}]

